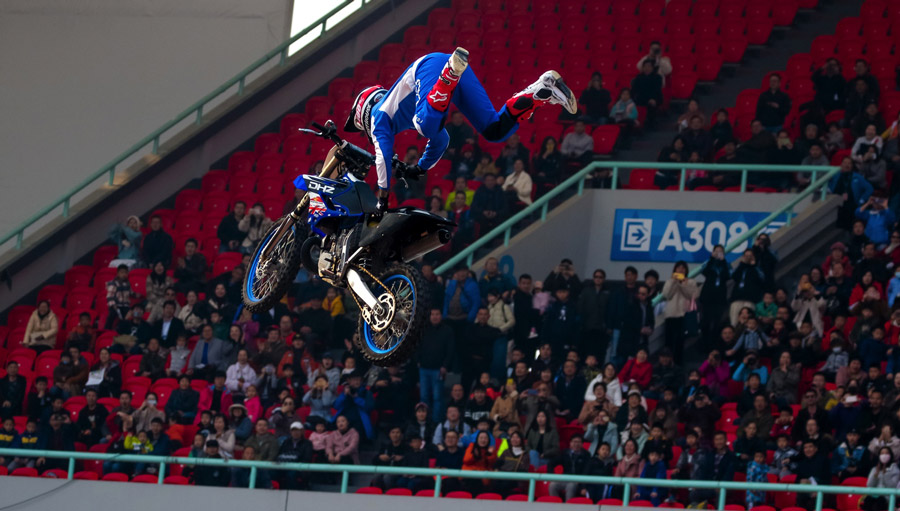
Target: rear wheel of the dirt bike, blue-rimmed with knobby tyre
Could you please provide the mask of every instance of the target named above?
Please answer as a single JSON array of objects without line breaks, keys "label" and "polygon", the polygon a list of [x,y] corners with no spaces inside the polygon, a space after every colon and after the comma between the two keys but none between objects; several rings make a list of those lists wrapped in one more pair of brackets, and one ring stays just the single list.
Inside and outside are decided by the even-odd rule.
[{"label": "rear wheel of the dirt bike, blue-rimmed with knobby tyre", "polygon": [[429,313],[428,288],[422,274],[406,264],[392,266],[378,279],[393,294],[394,299],[390,300],[391,295],[385,289],[370,283],[379,301],[392,307],[386,314],[391,321],[386,328],[376,331],[364,318],[365,314],[360,314],[358,347],[367,360],[389,367],[406,362],[422,338]]}]

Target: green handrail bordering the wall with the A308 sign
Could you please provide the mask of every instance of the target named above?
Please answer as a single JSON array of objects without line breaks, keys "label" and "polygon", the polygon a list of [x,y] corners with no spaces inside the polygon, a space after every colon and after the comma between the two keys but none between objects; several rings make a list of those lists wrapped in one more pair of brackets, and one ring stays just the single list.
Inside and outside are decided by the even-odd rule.
[{"label": "green handrail bordering the wall with the A308 sign", "polygon": [[[718,164],[718,163],[653,163],[653,162],[636,162],[636,161],[595,161],[593,163],[588,164],[583,169],[579,170],[571,177],[563,181],[562,183],[556,185],[552,190],[535,200],[529,206],[527,206],[522,211],[519,211],[515,215],[508,218],[505,222],[501,223],[493,230],[488,232],[487,234],[482,235],[477,240],[475,240],[471,245],[461,250],[458,254],[454,255],[450,259],[448,259],[445,263],[441,264],[437,268],[435,268],[435,273],[444,273],[454,266],[459,264],[462,261],[466,262],[466,266],[471,267],[472,261],[475,257],[475,252],[485,246],[488,242],[497,238],[499,236],[503,236],[503,246],[509,246],[509,240],[512,236],[512,228],[519,221],[529,217],[532,213],[536,212],[540,209],[541,211],[541,222],[547,219],[547,211],[549,209],[550,201],[561,194],[562,192],[568,190],[573,186],[578,186],[578,195],[584,193],[584,185],[587,180],[587,176],[596,170],[604,170],[604,169],[612,169],[612,178],[611,178],[611,188],[613,190],[618,189],[618,181],[619,181],[619,169],[645,169],[645,168],[653,168],[658,170],[679,170],[681,171],[681,178],[679,179],[679,191],[684,191],[685,181],[687,172],[689,170],[709,170],[715,172],[740,172],[741,173],[741,192],[747,191],[747,173],[748,172],[803,172],[803,173],[811,173],[812,174],[812,183],[810,186],[806,188],[806,190],[801,193],[801,196],[796,199],[796,201],[792,201],[791,209],[795,206],[800,200],[809,196],[811,190],[814,190],[814,184],[817,184],[821,181],[821,179],[817,179],[818,174],[820,172],[825,172],[828,179],[831,179],[838,170],[838,167],[832,167],[828,165],[804,165],[804,166],[796,166],[796,165],[736,165],[731,163]],[[824,183],[828,183],[826,179]],[[825,194],[827,192],[826,188],[822,188],[822,198],[825,198]],[[774,217],[773,217],[774,218]],[[767,218],[766,225],[771,222],[771,219]],[[758,225],[756,227],[759,227]],[[754,227],[754,229],[756,229]],[[765,227],[765,226],[763,226]],[[762,227],[759,227],[760,229]],[[752,230],[752,229],[751,229]],[[758,229],[757,229],[758,230]],[[743,241],[742,241],[743,242]],[[738,243],[739,245],[740,243]],[[737,245],[735,245],[737,246]]]}]

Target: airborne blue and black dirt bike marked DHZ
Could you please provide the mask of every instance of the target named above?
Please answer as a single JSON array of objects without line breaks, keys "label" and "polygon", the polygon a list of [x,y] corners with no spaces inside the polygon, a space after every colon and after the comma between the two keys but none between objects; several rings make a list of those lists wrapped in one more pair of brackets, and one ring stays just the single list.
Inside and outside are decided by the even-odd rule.
[{"label": "airborne blue and black dirt bike marked DHZ", "polygon": [[[332,121],[313,127],[319,131],[300,131],[335,146],[318,175],[294,180],[306,194],[256,247],[244,278],[244,306],[268,311],[302,264],[332,286],[349,289],[360,310],[357,346],[368,360],[403,363],[421,339],[430,308],[424,278],[408,263],[449,242],[456,224],[413,207],[388,210],[375,221],[378,200],[364,181],[375,157],[341,139]],[[398,180],[417,177],[396,156],[392,165]]]}]

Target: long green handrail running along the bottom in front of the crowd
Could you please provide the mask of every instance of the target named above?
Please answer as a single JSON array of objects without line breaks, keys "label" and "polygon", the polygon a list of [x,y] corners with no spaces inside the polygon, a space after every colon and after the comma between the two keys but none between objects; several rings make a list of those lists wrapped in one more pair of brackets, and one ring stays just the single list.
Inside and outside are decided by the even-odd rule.
[{"label": "long green handrail running along the bottom in front of the crowd", "polygon": [[182,465],[208,465],[208,466],[227,466],[233,468],[249,468],[250,487],[254,488],[256,483],[256,475],[259,470],[291,470],[304,472],[331,472],[341,473],[341,493],[347,493],[349,490],[349,474],[392,474],[392,475],[416,475],[435,478],[434,497],[440,498],[441,479],[444,477],[459,477],[466,479],[495,479],[504,481],[527,481],[529,486],[528,500],[534,500],[535,483],[542,482],[574,482],[581,484],[598,484],[624,486],[626,491],[623,496],[623,505],[628,505],[630,500],[629,488],[635,486],[658,486],[663,488],[699,488],[704,490],[718,490],[718,507],[723,510],[725,508],[725,497],[727,491],[774,491],[774,492],[793,492],[793,493],[815,493],[816,511],[822,509],[822,496],[824,494],[846,494],[853,493],[855,495],[873,495],[879,497],[888,497],[888,511],[895,511],[895,499],[900,495],[900,490],[895,488],[866,488],[866,487],[849,487],[849,486],[828,486],[828,485],[808,485],[808,484],[789,484],[789,483],[754,483],[754,482],[736,482],[736,481],[694,481],[694,480],[678,480],[678,479],[639,479],[635,477],[607,477],[607,476],[585,476],[585,475],[566,475],[566,474],[547,474],[534,472],[484,472],[475,470],[448,470],[439,468],[414,468],[414,467],[391,467],[391,466],[369,466],[369,465],[331,465],[317,463],[277,463],[268,461],[248,461],[248,460],[224,460],[220,458],[186,458],[176,456],[151,456],[139,454],[107,454],[97,452],[64,452],[64,451],[44,451],[29,449],[0,449],[0,456],[4,457],[20,457],[20,458],[54,458],[67,459],[68,471],[67,478],[73,479],[75,475],[75,462],[77,460],[115,460],[124,463],[146,463],[158,464],[158,484],[163,484],[166,474],[167,464]]}]

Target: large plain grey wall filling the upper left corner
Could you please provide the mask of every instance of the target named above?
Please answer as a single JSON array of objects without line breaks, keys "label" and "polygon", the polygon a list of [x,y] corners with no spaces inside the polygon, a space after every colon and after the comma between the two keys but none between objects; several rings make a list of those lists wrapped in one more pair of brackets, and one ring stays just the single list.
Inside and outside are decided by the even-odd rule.
[{"label": "large plain grey wall filling the upper left corner", "polygon": [[0,2],[0,234],[284,41],[291,4]]}]

